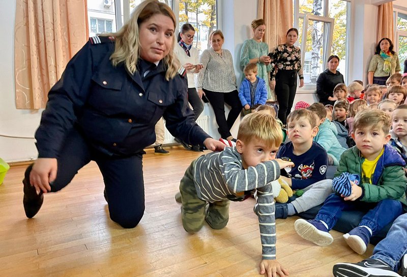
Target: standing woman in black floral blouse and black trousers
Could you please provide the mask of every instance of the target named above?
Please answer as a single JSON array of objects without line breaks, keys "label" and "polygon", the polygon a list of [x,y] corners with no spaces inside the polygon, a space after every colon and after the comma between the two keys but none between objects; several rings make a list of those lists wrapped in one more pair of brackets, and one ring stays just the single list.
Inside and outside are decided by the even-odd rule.
[{"label": "standing woman in black floral blouse and black trousers", "polygon": [[276,92],[279,104],[278,118],[286,124],[286,118],[293,107],[297,91],[297,74],[300,77],[300,88],[304,86],[301,67],[301,50],[294,46],[298,38],[298,30],[291,28],[285,35],[285,43],[274,50],[271,62],[271,89]]}]

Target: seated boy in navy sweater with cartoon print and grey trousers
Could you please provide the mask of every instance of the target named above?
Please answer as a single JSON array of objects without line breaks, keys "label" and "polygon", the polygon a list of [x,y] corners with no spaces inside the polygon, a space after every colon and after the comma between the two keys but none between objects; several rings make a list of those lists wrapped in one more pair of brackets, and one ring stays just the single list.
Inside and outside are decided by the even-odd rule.
[{"label": "seated boy in navy sweater with cartoon print and grey trousers", "polygon": [[282,146],[278,158],[294,162],[295,166],[281,178],[293,189],[304,194],[290,202],[276,204],[276,218],[304,212],[322,204],[332,193],[332,180],[325,179],[328,155],[312,139],[318,132],[316,116],[310,110],[297,109],[287,118],[287,134],[291,142]]}]

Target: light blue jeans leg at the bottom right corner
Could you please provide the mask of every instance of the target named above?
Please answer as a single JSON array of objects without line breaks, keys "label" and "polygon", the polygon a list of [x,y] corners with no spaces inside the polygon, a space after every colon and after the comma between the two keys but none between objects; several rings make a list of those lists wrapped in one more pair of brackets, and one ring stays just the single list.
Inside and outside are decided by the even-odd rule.
[{"label": "light blue jeans leg at the bottom right corner", "polygon": [[370,258],[380,259],[397,271],[404,254],[407,254],[407,213],[397,217],[386,238],[374,247]]}]

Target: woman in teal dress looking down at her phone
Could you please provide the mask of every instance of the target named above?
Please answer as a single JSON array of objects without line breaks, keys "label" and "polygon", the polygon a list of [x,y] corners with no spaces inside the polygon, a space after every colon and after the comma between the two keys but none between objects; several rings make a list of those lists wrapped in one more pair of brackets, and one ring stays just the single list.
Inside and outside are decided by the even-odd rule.
[{"label": "woman in teal dress looking down at her phone", "polygon": [[[269,53],[269,45],[262,41],[264,33],[266,32],[266,23],[263,19],[256,19],[251,22],[251,27],[253,28],[253,38],[243,43],[242,51],[240,52],[240,66],[243,69],[247,64],[257,64],[257,76],[266,81],[267,98],[276,101],[276,97],[271,94],[269,86],[269,72],[271,70],[271,60],[270,57],[267,56]],[[244,77],[243,75],[243,78]]]}]

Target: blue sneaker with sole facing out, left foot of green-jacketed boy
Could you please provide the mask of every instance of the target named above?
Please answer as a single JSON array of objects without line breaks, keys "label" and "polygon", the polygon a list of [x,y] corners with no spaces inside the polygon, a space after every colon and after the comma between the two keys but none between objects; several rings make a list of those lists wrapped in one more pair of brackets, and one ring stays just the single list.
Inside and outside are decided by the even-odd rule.
[{"label": "blue sneaker with sole facing out, left foot of green-jacketed boy", "polygon": [[319,246],[327,246],[334,241],[325,225],[319,220],[297,219],[294,229],[302,238]]}]

